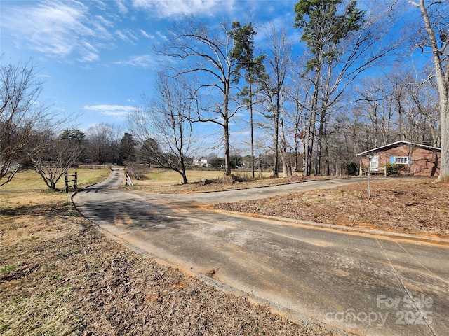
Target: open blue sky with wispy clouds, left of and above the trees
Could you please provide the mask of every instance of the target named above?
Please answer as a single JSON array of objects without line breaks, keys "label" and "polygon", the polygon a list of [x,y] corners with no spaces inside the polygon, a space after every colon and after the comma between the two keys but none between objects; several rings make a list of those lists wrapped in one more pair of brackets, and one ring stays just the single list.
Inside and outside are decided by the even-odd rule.
[{"label": "open blue sky with wispy clouds, left of and above the trees", "polygon": [[[79,114],[76,125],[123,124],[126,114],[151,95],[163,59],[152,45],[164,43],[182,15],[217,22],[293,22],[296,1],[240,0],[1,0],[2,63],[32,58],[44,81],[47,104]],[[253,19],[254,22],[254,19]]]}]

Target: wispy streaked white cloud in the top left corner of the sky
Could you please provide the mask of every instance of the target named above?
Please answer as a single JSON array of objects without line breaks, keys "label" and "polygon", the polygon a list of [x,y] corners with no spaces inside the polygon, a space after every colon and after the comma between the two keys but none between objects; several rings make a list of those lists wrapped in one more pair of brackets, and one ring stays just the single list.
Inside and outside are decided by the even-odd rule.
[{"label": "wispy streaked white cloud in the top left corner of the sky", "polygon": [[91,17],[89,8],[79,1],[26,4],[30,6],[2,8],[1,29],[13,36],[18,48],[52,57],[74,55],[80,61],[92,62],[99,59],[100,53],[93,45],[105,45],[112,39],[108,28],[113,22],[101,15]]}]

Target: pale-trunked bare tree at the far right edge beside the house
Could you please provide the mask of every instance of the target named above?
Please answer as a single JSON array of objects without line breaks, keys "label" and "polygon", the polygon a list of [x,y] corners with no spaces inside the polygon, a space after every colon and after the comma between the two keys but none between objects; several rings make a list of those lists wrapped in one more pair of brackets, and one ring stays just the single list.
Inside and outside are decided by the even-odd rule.
[{"label": "pale-trunked bare tree at the far right edge beside the house", "polygon": [[[420,8],[425,37],[420,43],[423,52],[431,52],[438,86],[441,130],[441,167],[438,181],[449,179],[449,4],[447,1],[410,1]],[[437,35],[439,41],[437,40]]]}]

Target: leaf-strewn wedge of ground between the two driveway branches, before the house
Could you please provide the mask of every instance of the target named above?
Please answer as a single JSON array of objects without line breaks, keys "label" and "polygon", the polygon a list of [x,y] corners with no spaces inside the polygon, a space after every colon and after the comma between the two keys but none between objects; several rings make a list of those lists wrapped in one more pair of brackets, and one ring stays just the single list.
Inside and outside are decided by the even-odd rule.
[{"label": "leaf-strewn wedge of ground between the two driveway branches, before the house", "polygon": [[329,190],[216,204],[217,209],[413,235],[449,237],[449,183],[434,179],[373,181]]}]

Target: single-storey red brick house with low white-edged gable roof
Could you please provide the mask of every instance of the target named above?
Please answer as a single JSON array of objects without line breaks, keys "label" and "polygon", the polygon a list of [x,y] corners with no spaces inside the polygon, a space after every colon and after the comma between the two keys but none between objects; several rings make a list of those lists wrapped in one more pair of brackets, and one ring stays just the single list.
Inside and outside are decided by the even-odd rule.
[{"label": "single-storey red brick house with low white-edged gable roof", "polygon": [[396,141],[356,154],[360,157],[360,174],[368,170],[384,172],[385,165],[403,165],[400,174],[415,176],[438,176],[440,172],[441,148],[408,141]]}]

